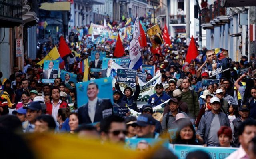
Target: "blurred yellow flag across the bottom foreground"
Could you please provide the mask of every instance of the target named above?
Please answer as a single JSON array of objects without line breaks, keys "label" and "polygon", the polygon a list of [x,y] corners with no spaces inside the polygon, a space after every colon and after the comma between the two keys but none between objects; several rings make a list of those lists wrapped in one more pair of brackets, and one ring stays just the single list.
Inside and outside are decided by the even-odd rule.
[{"label": "blurred yellow flag across the bottom foreground", "polygon": [[39,159],[143,159],[144,153],[124,149],[122,145],[93,139],[80,139],[71,134],[36,134],[26,142]]}]

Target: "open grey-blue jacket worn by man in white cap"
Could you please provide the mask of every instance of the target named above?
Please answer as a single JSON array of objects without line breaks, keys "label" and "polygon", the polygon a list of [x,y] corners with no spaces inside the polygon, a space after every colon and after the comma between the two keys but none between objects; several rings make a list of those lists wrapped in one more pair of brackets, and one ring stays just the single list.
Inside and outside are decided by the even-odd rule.
[{"label": "open grey-blue jacket worn by man in white cap", "polygon": [[[215,114],[212,111],[205,113],[199,123],[196,133],[204,139],[204,144],[208,143],[208,135],[211,127],[211,123]],[[228,116],[222,112],[219,113],[220,126],[230,127]],[[217,132],[216,132],[217,133]]]}]

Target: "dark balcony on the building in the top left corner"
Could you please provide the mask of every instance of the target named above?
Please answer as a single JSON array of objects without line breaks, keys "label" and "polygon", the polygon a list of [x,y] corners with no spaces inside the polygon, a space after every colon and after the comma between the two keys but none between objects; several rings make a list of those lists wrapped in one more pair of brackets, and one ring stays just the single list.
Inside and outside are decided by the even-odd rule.
[{"label": "dark balcony on the building in the top left corner", "polygon": [[22,23],[22,0],[0,0],[0,27],[13,27]]}]

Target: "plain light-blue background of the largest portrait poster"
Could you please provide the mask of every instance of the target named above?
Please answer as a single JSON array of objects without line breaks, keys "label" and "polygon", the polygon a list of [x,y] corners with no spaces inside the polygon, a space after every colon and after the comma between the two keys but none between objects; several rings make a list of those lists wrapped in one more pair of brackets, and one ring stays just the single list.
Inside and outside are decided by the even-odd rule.
[{"label": "plain light-blue background of the largest portrait poster", "polygon": [[112,91],[112,79],[100,78],[94,81],[78,82],[76,83],[76,94],[77,94],[77,106],[80,107],[88,103],[88,96],[91,95],[90,91],[87,91],[88,85],[91,82],[95,82],[98,85],[96,91],[98,98],[110,99],[113,103],[113,91]]}]

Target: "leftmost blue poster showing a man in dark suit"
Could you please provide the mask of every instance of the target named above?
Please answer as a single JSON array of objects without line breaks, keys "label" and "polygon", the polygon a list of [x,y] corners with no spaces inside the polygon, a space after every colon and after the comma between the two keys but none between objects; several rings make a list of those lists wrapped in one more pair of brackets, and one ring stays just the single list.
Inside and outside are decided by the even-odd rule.
[{"label": "leftmost blue poster showing a man in dark suit", "polygon": [[53,83],[54,79],[58,77],[60,60],[45,60],[43,70],[43,83]]}]

